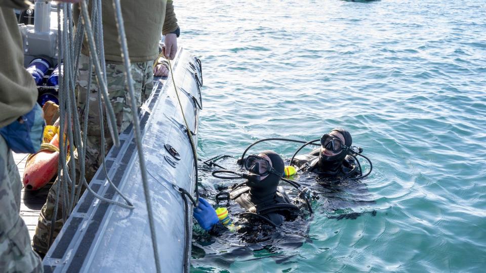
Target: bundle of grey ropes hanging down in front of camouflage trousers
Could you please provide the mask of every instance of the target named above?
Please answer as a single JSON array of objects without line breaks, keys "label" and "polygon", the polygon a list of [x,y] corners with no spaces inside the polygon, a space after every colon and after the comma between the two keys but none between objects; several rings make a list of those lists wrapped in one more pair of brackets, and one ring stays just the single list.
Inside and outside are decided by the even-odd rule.
[{"label": "bundle of grey ropes hanging down in front of camouflage trousers", "polygon": [[[99,1],[99,0],[98,0]],[[70,172],[71,174],[69,175],[68,169],[67,169],[67,164],[59,164],[58,166],[58,173],[63,173],[62,177],[58,181],[58,191],[57,195],[61,194],[61,204],[62,207],[67,207],[67,210],[63,210],[63,219],[67,219],[68,215],[72,211],[75,203],[77,202],[80,192],[82,190],[82,187],[80,185],[82,184],[85,186],[88,191],[93,194],[96,198],[100,199],[101,201],[108,202],[114,205],[118,205],[123,208],[128,208],[128,209],[133,209],[132,203],[123,195],[121,192],[115,187],[115,185],[112,183],[112,181],[109,179],[108,175],[107,179],[112,187],[115,188],[115,191],[127,202],[127,204],[120,203],[117,201],[114,201],[112,199],[104,198],[100,195],[98,195],[96,192],[94,192],[91,187],[89,187],[86,178],[85,178],[85,154],[86,154],[86,145],[84,145],[87,141],[87,127],[88,127],[88,115],[85,116],[85,121],[84,121],[84,127],[83,131],[85,134],[82,136],[81,135],[81,130],[79,126],[79,117],[77,113],[77,107],[76,107],[76,99],[75,99],[75,82],[76,82],[76,75],[77,75],[77,69],[78,69],[78,58],[80,54],[80,49],[81,49],[81,44],[83,42],[83,34],[85,33],[87,36],[88,41],[90,42],[90,50],[93,52],[91,56],[97,56],[96,54],[96,49],[95,46],[91,47],[94,43],[96,45],[103,47],[103,41],[102,41],[102,35],[100,34],[100,29],[102,27],[100,26],[101,24],[101,5],[98,6],[93,5],[92,7],[92,17],[95,19],[95,27],[97,27],[97,38],[94,38],[93,31],[91,28],[91,22],[90,18],[87,16],[87,6],[86,3],[82,3],[82,11],[83,14],[82,16],[79,17],[78,20],[78,27],[76,28],[76,33],[73,35],[73,29],[72,29],[72,10],[71,6],[68,4],[62,4],[62,9],[63,9],[63,14],[66,16],[63,17],[63,22],[61,24],[61,8],[58,9],[58,56],[59,60],[63,60],[63,73],[60,73],[59,76],[59,86],[62,88],[60,89],[59,92],[59,111],[60,111],[60,116],[64,117],[60,119],[60,128],[68,128],[67,130],[67,137],[64,138],[64,140],[61,140],[59,142],[59,149],[57,149],[60,153],[60,162],[70,162]],[[83,19],[83,21],[81,20]],[[83,22],[83,23],[81,23]],[[61,28],[62,26],[62,28]],[[86,32],[84,31],[86,28]],[[61,32],[61,29],[63,30]],[[66,30],[66,31],[64,31]],[[102,30],[101,30],[102,31]],[[61,50],[62,49],[62,50]],[[103,63],[103,66],[100,65],[100,61]],[[61,62],[59,62],[61,64]],[[104,65],[104,52],[101,50],[101,55],[99,55],[99,59],[95,59],[95,70],[97,72],[97,79],[98,79],[98,84],[101,86],[101,89],[105,92],[103,92],[103,96],[105,101],[109,102],[109,97],[107,93],[107,87],[106,87],[106,66]],[[93,67],[93,61],[92,58],[90,58],[90,68],[89,68],[89,83],[88,83],[88,90],[91,89],[91,72],[92,72],[92,67]],[[102,76],[101,76],[102,75]],[[101,79],[101,80],[100,80]],[[104,87],[104,88],[103,88]],[[88,95],[88,94],[87,94]],[[99,100],[101,102],[101,100]],[[107,111],[107,119],[108,119],[108,127],[110,129],[110,132],[115,132],[113,141],[116,142],[118,141],[118,133],[117,130],[113,129],[113,124],[115,125],[114,128],[116,128],[116,123],[115,122],[115,117],[114,117],[114,112],[110,111],[112,110],[112,106],[110,103],[107,103],[105,105],[106,111]],[[67,111],[67,112],[66,112]],[[89,112],[89,96],[87,96],[87,104],[85,108],[86,113]],[[100,111],[102,112],[102,111]],[[111,112],[111,113],[110,113]],[[111,114],[111,115],[110,115]],[[111,116],[111,118],[110,118]],[[111,121],[111,123],[110,123]],[[67,123],[66,123],[67,122]],[[74,127],[74,131],[72,130],[72,126]],[[79,166],[80,166],[80,176],[79,176],[79,183],[76,185],[76,179],[75,179],[75,162],[74,160],[69,161],[69,155],[74,152],[74,146],[70,145],[67,146],[67,143],[76,143],[77,146],[77,151],[79,153],[79,156],[82,160],[79,161]],[[104,141],[104,136],[103,136],[103,141]],[[56,150],[55,148],[50,146],[49,144],[44,144],[42,146],[44,150],[49,150],[49,151],[54,151]],[[66,149],[68,147],[68,149]],[[68,151],[69,150],[69,151]],[[103,163],[105,163],[104,158],[103,158]],[[106,167],[105,164],[103,164],[105,173]],[[71,193],[69,194],[68,192],[68,185],[71,185]],[[77,191],[76,191],[77,190]],[[54,215],[57,215],[57,208],[59,204],[59,198],[56,198],[56,203],[55,203],[55,213]],[[51,220],[51,226],[54,226],[55,222],[55,217]],[[53,237],[53,229],[51,229],[51,235],[50,235],[50,240],[52,241]]]}]

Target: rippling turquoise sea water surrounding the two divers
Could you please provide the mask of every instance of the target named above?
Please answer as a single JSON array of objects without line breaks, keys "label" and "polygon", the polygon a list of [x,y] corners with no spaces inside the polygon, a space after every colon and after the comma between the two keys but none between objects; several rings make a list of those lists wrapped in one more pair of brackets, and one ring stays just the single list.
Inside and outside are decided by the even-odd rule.
[{"label": "rippling turquoise sea water surrounding the two divers", "polygon": [[175,5],[179,42],[203,62],[201,159],[339,126],[374,163],[362,183],[376,202],[348,209],[375,216],[329,218],[321,198],[285,262],[194,255],[194,271],[484,271],[485,1]]}]

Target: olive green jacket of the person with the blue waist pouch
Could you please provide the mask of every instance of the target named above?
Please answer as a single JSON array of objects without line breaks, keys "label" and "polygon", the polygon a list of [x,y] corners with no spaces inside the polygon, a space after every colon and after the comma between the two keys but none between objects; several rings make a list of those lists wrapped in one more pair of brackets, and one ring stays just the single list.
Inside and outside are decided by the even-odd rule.
[{"label": "olive green jacket of the person with the blue waist pouch", "polygon": [[37,88],[24,68],[22,36],[14,9],[26,9],[23,0],[0,0],[0,127],[32,110]]}]

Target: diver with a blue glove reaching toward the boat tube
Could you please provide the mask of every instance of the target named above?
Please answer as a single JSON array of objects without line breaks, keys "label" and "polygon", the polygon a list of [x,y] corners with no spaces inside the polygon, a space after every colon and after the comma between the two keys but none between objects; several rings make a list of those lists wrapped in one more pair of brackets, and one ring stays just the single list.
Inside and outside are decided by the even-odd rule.
[{"label": "diver with a blue glove reaching toward the boat tube", "polygon": [[[291,203],[282,187],[278,187],[285,165],[277,153],[263,151],[258,155],[250,155],[245,159],[244,165],[249,173],[242,174],[241,177],[248,180],[235,184],[229,192],[229,199],[245,211],[240,216],[257,218],[272,226],[278,226],[298,215],[299,207]],[[223,170],[219,172],[234,173]],[[220,221],[214,208],[203,198],[199,198],[199,204],[194,208],[194,218],[210,234],[219,235],[227,230],[223,225],[224,220]]]}]

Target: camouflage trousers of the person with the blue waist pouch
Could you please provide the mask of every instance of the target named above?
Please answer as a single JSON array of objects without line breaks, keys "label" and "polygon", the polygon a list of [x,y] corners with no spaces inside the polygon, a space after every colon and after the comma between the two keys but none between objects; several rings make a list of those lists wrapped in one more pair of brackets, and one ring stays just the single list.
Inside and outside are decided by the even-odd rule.
[{"label": "camouflage trousers of the person with the blue waist pouch", "polygon": [[30,236],[20,211],[19,170],[0,136],[0,272],[42,272],[41,258],[30,247]]}]

